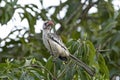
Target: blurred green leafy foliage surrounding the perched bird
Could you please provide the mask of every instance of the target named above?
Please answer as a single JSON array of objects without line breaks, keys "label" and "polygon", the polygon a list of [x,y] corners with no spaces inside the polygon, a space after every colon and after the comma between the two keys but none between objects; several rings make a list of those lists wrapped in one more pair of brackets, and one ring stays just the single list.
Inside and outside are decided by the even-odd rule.
[{"label": "blurred green leafy foliage surrounding the perched bird", "polygon": [[[42,0],[39,1],[40,5],[44,4]],[[22,10],[19,12],[21,21],[27,20],[29,24],[29,28],[23,26],[22,29],[12,30],[6,38],[0,39],[0,79],[109,80],[119,76],[120,10],[114,9],[112,1],[67,0],[60,1],[58,6],[42,6],[42,9],[39,9],[35,4],[22,6],[17,4],[17,0],[0,0],[0,4],[5,3],[0,6],[1,25],[7,25],[18,9]],[[96,7],[97,12],[89,13],[92,7]],[[52,8],[55,11],[48,16]],[[65,16],[60,17],[64,8],[67,9]],[[42,43],[42,31],[35,32],[34,26],[40,19],[51,19],[55,24],[60,24],[60,28],[54,30],[62,37],[71,54],[96,71],[94,77],[90,77],[71,60],[64,63],[57,59],[53,63]],[[16,33],[16,38],[10,37]]]}]

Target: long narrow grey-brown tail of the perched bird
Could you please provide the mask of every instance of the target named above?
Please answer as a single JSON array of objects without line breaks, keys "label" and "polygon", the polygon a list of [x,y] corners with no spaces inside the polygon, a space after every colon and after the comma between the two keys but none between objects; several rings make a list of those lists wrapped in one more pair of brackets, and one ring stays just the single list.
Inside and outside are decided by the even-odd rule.
[{"label": "long narrow grey-brown tail of the perched bird", "polygon": [[75,56],[70,54],[70,58],[72,58],[75,62],[78,63],[79,66],[81,66],[90,76],[94,76],[95,71],[93,71],[90,67],[88,67],[84,62],[76,58]]}]

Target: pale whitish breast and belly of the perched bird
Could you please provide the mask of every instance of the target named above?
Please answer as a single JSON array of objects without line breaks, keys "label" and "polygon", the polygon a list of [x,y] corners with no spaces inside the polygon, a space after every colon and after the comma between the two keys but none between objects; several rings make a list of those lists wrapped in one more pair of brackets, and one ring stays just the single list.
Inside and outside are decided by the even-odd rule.
[{"label": "pale whitish breast and belly of the perched bird", "polygon": [[[54,56],[63,56],[63,57],[69,56],[69,51],[67,50],[67,48],[64,45],[61,46],[54,40],[50,39],[48,37],[48,34],[49,33],[43,31],[43,43],[45,47],[51,52],[51,54],[53,54]],[[61,42],[60,44],[63,43]],[[66,49],[63,47],[65,47]]]}]

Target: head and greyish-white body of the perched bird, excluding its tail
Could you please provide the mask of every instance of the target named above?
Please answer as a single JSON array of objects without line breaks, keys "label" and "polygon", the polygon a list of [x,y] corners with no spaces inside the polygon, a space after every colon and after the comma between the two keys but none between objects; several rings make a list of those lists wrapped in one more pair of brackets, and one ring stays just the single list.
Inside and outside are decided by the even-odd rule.
[{"label": "head and greyish-white body of the perched bird, excluding its tail", "polygon": [[51,25],[53,23],[48,21],[43,25],[43,43],[45,47],[49,50],[50,54],[59,57],[62,60],[67,60],[69,56],[69,51],[66,46],[63,44],[59,36],[54,33],[51,33]]}]

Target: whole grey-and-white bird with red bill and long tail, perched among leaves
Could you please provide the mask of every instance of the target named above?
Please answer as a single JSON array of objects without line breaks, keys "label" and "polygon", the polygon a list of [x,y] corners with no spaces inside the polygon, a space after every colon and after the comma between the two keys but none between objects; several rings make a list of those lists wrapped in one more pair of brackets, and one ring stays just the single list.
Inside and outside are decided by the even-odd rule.
[{"label": "whole grey-and-white bird with red bill and long tail, perched among leaves", "polygon": [[62,39],[56,33],[51,32],[52,26],[54,26],[54,22],[52,20],[45,21],[43,24],[42,33],[43,44],[48,49],[50,54],[53,57],[59,58],[63,61],[67,61],[68,58],[71,58],[77,62],[78,65],[81,66],[90,76],[94,76],[95,71],[86,65],[83,61],[70,54]]}]

